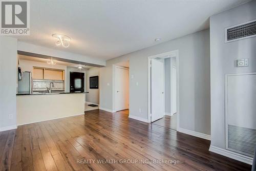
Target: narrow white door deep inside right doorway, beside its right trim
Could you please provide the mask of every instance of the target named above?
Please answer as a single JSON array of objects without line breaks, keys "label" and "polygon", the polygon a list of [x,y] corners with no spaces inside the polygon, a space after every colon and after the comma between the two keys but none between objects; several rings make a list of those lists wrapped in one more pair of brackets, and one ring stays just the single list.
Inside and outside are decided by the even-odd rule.
[{"label": "narrow white door deep inside right doorway, beside its right trim", "polygon": [[172,67],[172,115],[177,113],[176,67]]}]

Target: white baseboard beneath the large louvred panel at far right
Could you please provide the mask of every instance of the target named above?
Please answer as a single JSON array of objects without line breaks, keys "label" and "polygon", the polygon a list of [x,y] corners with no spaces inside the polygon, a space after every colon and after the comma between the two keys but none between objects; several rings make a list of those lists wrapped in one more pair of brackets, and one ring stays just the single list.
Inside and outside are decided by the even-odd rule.
[{"label": "white baseboard beneath the large louvred panel at far right", "polygon": [[217,146],[210,145],[209,151],[217,153],[217,154],[222,155],[222,156],[229,157],[229,158],[234,159],[234,160],[238,160],[238,161],[250,164],[250,165],[252,164],[252,160],[253,160],[252,157],[245,156],[245,155],[242,155],[242,154],[239,154],[239,153],[236,153],[236,152],[231,152],[227,149],[223,149],[223,148],[220,148],[220,147],[217,147]]}]

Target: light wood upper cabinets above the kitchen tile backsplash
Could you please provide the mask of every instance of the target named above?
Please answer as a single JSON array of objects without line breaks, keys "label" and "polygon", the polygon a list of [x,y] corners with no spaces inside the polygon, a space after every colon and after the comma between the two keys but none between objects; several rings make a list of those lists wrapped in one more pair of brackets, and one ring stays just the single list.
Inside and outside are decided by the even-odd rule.
[{"label": "light wood upper cabinets above the kitchen tile backsplash", "polygon": [[65,80],[65,71],[50,68],[33,67],[33,79]]}]

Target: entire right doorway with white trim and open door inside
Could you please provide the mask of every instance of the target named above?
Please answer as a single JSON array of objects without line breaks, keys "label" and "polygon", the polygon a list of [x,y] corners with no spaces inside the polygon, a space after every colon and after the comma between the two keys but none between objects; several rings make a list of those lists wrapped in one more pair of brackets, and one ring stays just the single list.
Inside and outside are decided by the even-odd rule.
[{"label": "entire right doorway with white trim and open door inside", "polygon": [[148,57],[148,122],[179,128],[178,50]]}]

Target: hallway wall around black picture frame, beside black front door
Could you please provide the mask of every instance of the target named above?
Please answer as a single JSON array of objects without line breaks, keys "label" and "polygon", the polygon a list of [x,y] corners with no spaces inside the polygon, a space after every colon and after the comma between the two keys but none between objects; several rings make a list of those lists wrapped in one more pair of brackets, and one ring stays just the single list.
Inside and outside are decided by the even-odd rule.
[{"label": "hallway wall around black picture frame, beside black front door", "polygon": [[86,101],[99,104],[99,89],[90,89],[90,77],[99,76],[99,68],[93,67],[86,71]]}]

